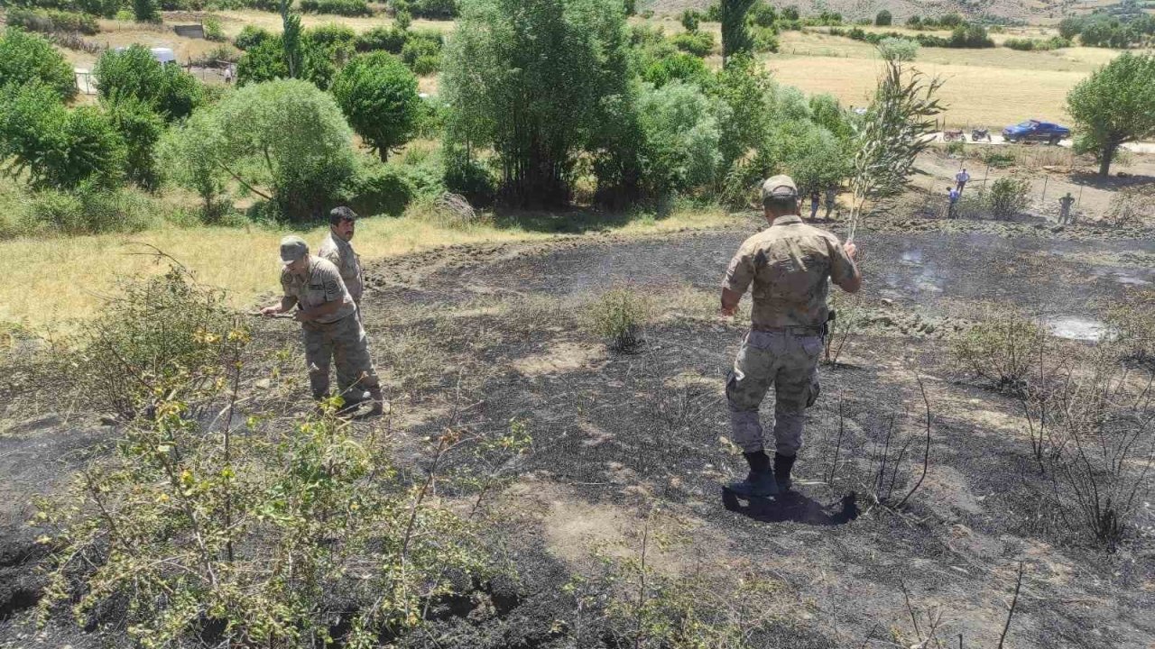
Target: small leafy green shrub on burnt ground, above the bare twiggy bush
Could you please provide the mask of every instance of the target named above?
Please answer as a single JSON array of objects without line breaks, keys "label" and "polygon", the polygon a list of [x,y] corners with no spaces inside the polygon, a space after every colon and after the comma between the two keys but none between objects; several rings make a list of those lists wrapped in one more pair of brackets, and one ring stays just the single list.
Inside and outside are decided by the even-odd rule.
[{"label": "small leafy green shrub on burnt ground, above the bare twiggy bush", "polygon": [[951,351],[959,365],[996,389],[1024,394],[1045,338],[1045,330],[1030,320],[991,313],[956,337]]}]

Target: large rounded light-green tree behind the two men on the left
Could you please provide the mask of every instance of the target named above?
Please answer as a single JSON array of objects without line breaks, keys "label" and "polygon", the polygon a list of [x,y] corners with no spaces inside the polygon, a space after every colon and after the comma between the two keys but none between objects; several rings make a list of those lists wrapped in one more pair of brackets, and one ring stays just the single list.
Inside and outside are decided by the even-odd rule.
[{"label": "large rounded light-green tree behind the two men on the left", "polygon": [[246,85],[203,110],[165,146],[188,156],[195,169],[174,178],[198,191],[215,181],[204,177],[215,166],[281,215],[308,221],[320,218],[353,173],[352,132],[333,97],[312,83]]}]

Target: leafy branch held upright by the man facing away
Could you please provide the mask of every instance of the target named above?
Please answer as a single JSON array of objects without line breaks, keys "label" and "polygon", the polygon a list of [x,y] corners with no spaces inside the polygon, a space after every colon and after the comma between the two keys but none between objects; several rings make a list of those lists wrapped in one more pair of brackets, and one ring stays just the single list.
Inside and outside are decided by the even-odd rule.
[{"label": "leafy branch held upright by the man facing away", "polygon": [[854,122],[854,171],[850,177],[850,233],[866,214],[891,204],[910,184],[915,158],[933,141],[934,115],[942,106],[934,97],[944,81],[929,79],[902,61],[888,59],[866,114]]}]

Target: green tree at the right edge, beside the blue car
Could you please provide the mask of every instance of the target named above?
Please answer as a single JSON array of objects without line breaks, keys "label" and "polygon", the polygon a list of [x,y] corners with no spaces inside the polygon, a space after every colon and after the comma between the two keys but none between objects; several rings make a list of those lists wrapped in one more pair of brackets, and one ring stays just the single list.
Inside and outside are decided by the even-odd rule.
[{"label": "green tree at the right edge, beside the blue car", "polygon": [[1119,147],[1155,135],[1155,55],[1119,54],[1067,94],[1067,112],[1079,126],[1078,150],[1111,171]]}]

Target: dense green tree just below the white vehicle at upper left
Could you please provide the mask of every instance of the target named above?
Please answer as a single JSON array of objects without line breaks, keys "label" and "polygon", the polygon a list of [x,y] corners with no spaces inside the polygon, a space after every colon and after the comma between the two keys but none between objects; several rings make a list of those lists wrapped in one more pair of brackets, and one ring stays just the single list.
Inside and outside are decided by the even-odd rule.
[{"label": "dense green tree just below the white vehicle at upper left", "polygon": [[169,120],[188,117],[201,102],[196,77],[180,66],[161,64],[143,45],[105,52],[92,73],[102,102],[139,99]]}]

